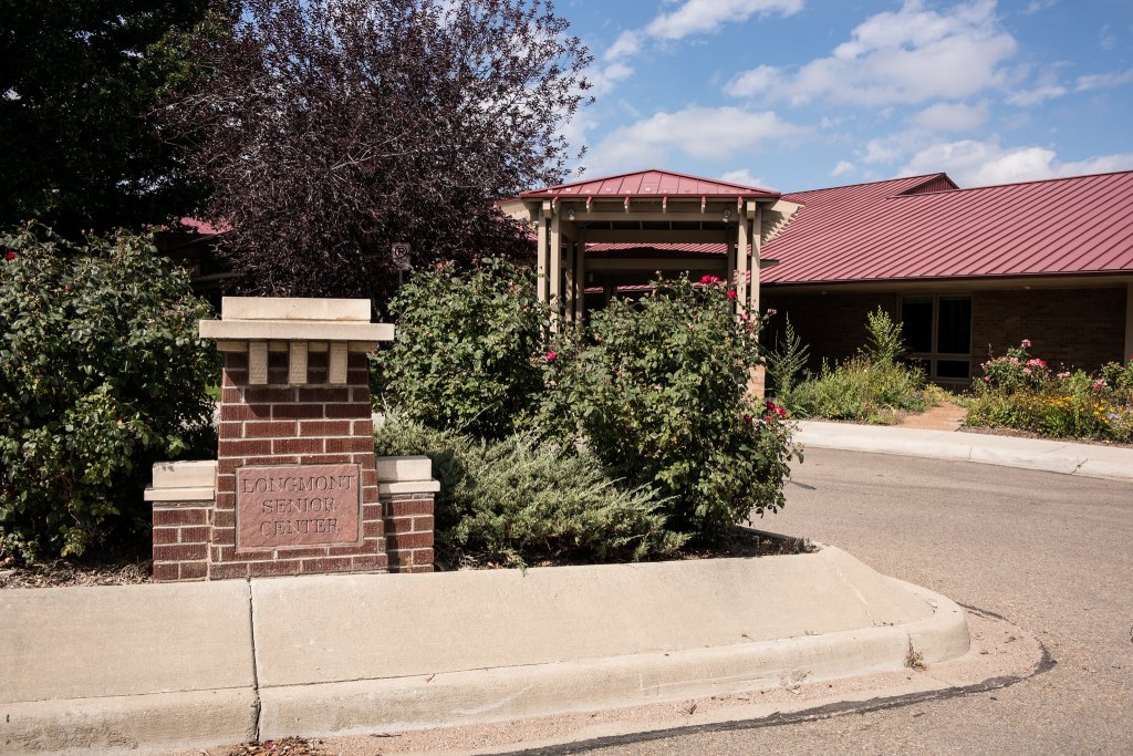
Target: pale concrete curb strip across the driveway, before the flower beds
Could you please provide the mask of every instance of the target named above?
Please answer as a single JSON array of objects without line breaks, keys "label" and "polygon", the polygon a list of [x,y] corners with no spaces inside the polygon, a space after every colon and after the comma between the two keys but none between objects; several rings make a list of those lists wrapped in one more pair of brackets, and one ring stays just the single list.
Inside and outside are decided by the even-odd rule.
[{"label": "pale concrete curb strip across the driveway, before the flower beds", "polygon": [[1133,481],[1133,449],[962,431],[801,421],[804,447],[957,459],[1063,475]]}]

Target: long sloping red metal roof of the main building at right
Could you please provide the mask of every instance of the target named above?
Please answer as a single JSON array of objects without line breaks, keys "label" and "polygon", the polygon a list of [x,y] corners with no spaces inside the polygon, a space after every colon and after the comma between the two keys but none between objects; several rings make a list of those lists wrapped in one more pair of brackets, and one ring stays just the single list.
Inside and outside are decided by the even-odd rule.
[{"label": "long sloping red metal roof of the main building at right", "polygon": [[764,247],[780,264],[763,282],[1133,271],[1133,171],[934,190],[942,178],[783,195],[803,206]]}]

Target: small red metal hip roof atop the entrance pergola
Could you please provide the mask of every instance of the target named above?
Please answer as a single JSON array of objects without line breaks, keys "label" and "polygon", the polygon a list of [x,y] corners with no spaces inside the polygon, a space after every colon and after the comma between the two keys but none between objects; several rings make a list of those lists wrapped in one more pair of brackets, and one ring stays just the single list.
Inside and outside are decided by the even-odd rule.
[{"label": "small red metal hip roof atop the entrance pergola", "polygon": [[604,178],[586,179],[531,189],[519,195],[525,199],[538,197],[778,197],[778,192],[755,186],[730,184],[719,179],[701,178],[673,171],[647,170]]}]

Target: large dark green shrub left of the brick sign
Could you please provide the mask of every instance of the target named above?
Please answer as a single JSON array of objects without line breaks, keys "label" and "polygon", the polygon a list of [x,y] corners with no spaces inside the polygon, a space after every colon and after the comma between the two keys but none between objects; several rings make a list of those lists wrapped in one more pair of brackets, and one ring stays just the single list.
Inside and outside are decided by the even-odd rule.
[{"label": "large dark green shrub left of the brick sign", "polygon": [[71,245],[31,226],[2,244],[0,532],[77,555],[148,521],[155,460],[208,443],[208,308],[148,237]]}]

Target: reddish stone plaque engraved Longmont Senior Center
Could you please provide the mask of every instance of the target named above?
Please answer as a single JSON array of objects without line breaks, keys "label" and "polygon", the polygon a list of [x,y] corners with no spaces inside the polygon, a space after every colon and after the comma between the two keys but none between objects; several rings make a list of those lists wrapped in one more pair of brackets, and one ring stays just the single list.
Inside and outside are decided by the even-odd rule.
[{"label": "reddish stone plaque engraved Longmont Senior Center", "polygon": [[236,470],[236,547],[357,543],[358,465],[240,467]]}]

